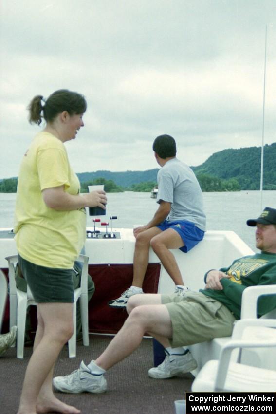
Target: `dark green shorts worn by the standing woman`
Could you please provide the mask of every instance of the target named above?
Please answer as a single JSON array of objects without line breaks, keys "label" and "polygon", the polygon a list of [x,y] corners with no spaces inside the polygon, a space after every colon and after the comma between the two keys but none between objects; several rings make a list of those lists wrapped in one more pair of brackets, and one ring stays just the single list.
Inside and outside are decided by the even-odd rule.
[{"label": "dark green shorts worn by the standing woman", "polygon": [[37,303],[74,302],[73,269],[39,266],[19,255],[18,263]]}]

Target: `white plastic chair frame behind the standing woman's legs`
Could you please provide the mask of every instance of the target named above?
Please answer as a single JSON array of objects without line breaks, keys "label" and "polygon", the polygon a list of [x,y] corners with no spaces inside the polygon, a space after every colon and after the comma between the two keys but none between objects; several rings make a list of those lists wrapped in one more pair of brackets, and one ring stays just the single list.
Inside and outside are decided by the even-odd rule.
[{"label": "white plastic chair frame behind the standing woman's legs", "polygon": [[[16,286],[15,269],[18,262],[18,255],[8,256],[6,260],[9,263],[9,296],[10,296],[10,327],[17,325],[17,358],[23,358],[24,355],[24,336],[26,325],[26,311],[30,305],[36,305],[36,301],[27,286],[27,292],[22,292]],[[81,272],[80,287],[74,290],[74,334],[68,341],[69,357],[76,356],[76,302],[80,301],[82,340],[85,346],[89,345],[88,336],[88,297],[87,297],[87,275],[88,275],[88,257],[79,255],[78,262],[83,263]]]}]

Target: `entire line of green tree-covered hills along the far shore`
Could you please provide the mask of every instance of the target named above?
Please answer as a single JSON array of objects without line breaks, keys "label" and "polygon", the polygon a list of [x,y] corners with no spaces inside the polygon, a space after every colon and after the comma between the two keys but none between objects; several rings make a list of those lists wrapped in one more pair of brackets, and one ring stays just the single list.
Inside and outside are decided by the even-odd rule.
[{"label": "entire line of green tree-covered hills along the far shore", "polygon": [[[202,165],[192,169],[202,191],[237,191],[260,188],[260,166],[261,147],[249,147],[215,152]],[[121,172],[101,170],[77,175],[82,190],[86,190],[88,183],[101,178],[110,191],[146,191],[156,183],[157,172],[158,168]],[[0,192],[15,192],[16,187],[16,177],[0,180]],[[264,146],[263,189],[276,190],[276,143]]]}]

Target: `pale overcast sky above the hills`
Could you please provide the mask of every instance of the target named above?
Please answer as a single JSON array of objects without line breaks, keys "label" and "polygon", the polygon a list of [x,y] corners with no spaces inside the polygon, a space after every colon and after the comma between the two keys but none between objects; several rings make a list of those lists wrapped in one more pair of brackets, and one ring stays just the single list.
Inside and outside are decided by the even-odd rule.
[{"label": "pale overcast sky above the hills", "polygon": [[[75,172],[158,167],[152,142],[178,158],[276,141],[276,0],[1,0],[0,178],[42,128],[26,107],[68,88],[86,96],[66,143]],[[231,160],[229,160],[231,162]]]}]

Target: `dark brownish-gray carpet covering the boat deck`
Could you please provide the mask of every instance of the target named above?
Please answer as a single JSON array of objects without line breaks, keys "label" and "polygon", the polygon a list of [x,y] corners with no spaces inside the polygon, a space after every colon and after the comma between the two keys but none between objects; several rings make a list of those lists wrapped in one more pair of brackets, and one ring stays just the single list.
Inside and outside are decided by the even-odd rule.
[{"label": "dark brownish-gray carpet covering the boat deck", "polygon": [[[90,345],[77,345],[76,358],[68,358],[67,345],[55,365],[55,376],[78,368],[80,361],[89,363],[109,344],[110,336],[90,335]],[[16,358],[10,348],[0,358],[0,413],[17,413],[23,378],[32,348],[25,347],[24,359]],[[184,374],[171,379],[152,379],[147,370],[153,366],[152,339],[143,339],[140,347],[124,361],[111,368],[106,378],[108,391],[103,394],[63,394],[57,397],[74,405],[82,414],[175,414],[174,401],[184,399],[193,377]]]}]

